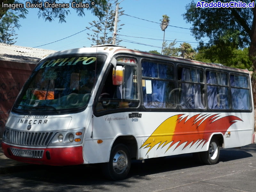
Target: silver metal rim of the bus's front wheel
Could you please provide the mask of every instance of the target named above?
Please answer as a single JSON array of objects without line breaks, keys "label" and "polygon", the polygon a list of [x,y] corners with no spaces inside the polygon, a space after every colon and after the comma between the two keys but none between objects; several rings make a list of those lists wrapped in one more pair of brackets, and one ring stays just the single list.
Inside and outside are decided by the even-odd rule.
[{"label": "silver metal rim of the bus's front wheel", "polygon": [[113,169],[117,174],[125,172],[127,167],[127,155],[124,151],[118,151],[113,158]]}]

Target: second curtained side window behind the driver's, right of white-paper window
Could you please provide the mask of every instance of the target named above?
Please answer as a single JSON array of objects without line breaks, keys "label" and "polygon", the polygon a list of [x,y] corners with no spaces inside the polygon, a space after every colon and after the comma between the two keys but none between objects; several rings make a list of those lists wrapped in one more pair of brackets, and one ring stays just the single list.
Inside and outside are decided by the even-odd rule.
[{"label": "second curtained side window behind the driver's, right of white-paper window", "polygon": [[196,68],[178,68],[180,107],[205,108],[203,71]]}]

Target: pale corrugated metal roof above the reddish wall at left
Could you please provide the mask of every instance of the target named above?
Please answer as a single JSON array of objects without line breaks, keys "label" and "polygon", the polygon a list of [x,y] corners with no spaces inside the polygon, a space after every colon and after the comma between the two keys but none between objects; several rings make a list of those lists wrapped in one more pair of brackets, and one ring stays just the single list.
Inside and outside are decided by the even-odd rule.
[{"label": "pale corrugated metal roof above the reddish wall at left", "polygon": [[0,43],[0,60],[37,64],[44,56],[56,51]]}]

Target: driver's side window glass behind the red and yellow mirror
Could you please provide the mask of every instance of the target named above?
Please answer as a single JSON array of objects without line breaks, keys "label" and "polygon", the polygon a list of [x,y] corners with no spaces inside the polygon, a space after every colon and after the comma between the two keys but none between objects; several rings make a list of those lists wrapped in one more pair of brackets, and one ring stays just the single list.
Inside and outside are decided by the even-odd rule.
[{"label": "driver's side window glass behind the red and yellow mirror", "polygon": [[136,67],[124,65],[122,85],[113,85],[111,68],[97,101],[97,112],[118,108],[135,108],[139,103]]}]

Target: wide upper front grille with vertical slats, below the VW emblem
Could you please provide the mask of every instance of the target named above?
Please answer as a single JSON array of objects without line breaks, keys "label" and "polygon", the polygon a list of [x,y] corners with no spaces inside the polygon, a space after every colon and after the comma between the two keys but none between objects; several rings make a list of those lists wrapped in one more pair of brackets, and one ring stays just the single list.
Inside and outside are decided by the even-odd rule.
[{"label": "wide upper front grille with vertical slats, below the VW emblem", "polygon": [[52,139],[53,132],[26,132],[10,130],[11,144],[32,147],[45,147]]}]

